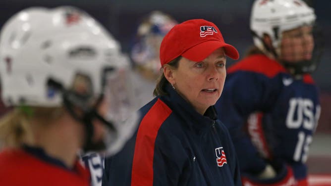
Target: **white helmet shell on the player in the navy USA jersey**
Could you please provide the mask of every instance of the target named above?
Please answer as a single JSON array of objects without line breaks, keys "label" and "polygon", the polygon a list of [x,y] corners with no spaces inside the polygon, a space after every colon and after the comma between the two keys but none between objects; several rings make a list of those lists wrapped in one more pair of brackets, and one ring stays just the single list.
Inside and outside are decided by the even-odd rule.
[{"label": "white helmet shell on the player in the navy USA jersey", "polygon": [[302,0],[255,0],[250,17],[254,44],[265,50],[261,38],[268,34],[277,48],[282,32],[312,25],[315,19],[314,9]]}]

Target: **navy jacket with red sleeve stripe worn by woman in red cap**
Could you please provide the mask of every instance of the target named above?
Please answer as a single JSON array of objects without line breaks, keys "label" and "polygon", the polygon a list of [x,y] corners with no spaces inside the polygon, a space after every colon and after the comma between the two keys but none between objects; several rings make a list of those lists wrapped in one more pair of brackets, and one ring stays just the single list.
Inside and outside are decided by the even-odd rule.
[{"label": "navy jacket with red sleeve stripe worn by woman in red cap", "polygon": [[241,186],[238,162],[215,108],[199,114],[174,90],[140,109],[139,128],[106,158],[103,186]]}]

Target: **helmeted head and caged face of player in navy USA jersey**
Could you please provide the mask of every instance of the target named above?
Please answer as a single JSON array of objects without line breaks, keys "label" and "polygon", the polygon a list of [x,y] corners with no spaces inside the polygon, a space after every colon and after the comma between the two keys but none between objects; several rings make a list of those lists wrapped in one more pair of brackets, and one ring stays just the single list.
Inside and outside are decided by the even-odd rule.
[{"label": "helmeted head and caged face of player in navy USA jersey", "polygon": [[[314,9],[302,0],[255,0],[250,20],[254,44],[291,74],[311,73],[324,46],[315,19]],[[264,41],[266,35],[271,47]]]}]

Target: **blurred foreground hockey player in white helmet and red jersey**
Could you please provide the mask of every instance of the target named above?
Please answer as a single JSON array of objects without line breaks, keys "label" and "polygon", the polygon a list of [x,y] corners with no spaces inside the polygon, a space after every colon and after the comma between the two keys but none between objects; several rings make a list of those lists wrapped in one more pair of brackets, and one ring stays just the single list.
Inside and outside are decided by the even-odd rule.
[{"label": "blurred foreground hockey player in white helmet and red jersey", "polygon": [[32,7],[0,35],[0,186],[88,186],[78,151],[118,151],[135,130],[118,44],[73,7]]}]

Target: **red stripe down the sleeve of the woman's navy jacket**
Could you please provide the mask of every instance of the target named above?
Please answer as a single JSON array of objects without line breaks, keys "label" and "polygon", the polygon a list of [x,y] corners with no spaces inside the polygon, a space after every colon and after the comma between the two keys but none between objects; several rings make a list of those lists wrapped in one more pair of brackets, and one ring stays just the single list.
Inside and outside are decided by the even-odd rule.
[{"label": "red stripe down the sleeve of the woman's navy jacket", "polygon": [[171,109],[158,99],[142,119],[133,155],[131,186],[153,186],[155,139],[171,112]]}]

